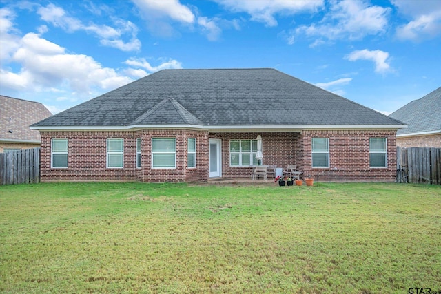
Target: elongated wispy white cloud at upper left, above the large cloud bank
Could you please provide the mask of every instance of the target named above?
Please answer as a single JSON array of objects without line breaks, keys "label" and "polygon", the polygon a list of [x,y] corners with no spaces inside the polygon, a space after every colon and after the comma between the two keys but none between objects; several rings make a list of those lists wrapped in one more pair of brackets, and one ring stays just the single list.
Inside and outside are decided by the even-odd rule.
[{"label": "elongated wispy white cloud at upper left, above the large cloud bank", "polygon": [[[54,4],[40,7],[37,13],[43,21],[47,21],[55,27],[62,28],[66,32],[83,30],[92,33],[99,37],[102,45],[123,51],[136,51],[141,48],[141,41],[136,38],[138,28],[130,21],[114,19],[116,28],[112,28],[108,25],[96,25],[95,23],[84,25],[79,19],[70,17],[63,8],[54,6]],[[121,39],[124,34],[130,34],[130,41],[124,42]]]}]

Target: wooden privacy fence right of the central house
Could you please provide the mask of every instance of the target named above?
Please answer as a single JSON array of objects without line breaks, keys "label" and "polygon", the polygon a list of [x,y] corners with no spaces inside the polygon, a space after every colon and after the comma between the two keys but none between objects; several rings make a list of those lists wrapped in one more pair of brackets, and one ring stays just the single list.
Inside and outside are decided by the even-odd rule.
[{"label": "wooden privacy fence right of the central house", "polygon": [[441,148],[397,147],[397,182],[441,185]]}]

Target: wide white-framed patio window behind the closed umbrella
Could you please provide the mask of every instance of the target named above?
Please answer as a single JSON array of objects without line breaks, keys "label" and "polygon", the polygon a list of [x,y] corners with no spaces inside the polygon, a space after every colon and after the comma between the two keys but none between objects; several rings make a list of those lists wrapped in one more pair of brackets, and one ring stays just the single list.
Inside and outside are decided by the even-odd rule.
[{"label": "wide white-framed patio window behind the closed umbrella", "polygon": [[232,167],[247,167],[257,165],[257,140],[229,141],[229,165]]}]

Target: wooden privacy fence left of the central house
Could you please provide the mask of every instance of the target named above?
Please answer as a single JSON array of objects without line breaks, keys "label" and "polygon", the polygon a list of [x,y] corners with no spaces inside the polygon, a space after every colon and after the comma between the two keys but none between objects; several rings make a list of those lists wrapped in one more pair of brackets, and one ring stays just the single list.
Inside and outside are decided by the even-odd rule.
[{"label": "wooden privacy fence left of the central house", "polygon": [[40,181],[40,148],[0,153],[0,185]]}]

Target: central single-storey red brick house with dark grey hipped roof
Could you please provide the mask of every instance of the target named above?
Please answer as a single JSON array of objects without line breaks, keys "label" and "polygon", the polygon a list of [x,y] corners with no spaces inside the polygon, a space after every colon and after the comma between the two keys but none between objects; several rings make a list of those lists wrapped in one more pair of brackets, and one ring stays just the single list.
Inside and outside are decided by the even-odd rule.
[{"label": "central single-storey red brick house with dark grey hipped roof", "polygon": [[205,181],[296,164],[392,181],[403,123],[273,69],[161,70],[32,126],[41,180]]}]

